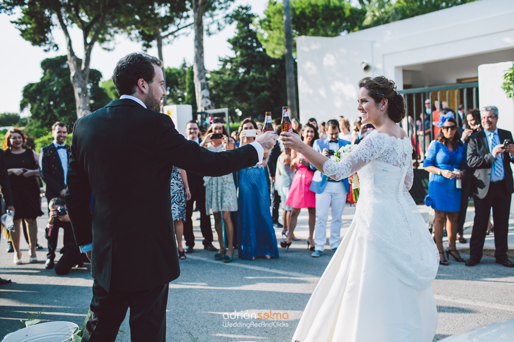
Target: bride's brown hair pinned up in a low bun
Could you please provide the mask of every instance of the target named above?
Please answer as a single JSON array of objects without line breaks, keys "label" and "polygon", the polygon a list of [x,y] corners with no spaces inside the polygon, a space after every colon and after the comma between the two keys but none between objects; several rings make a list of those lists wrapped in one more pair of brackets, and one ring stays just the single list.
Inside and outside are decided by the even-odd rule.
[{"label": "bride's brown hair pinned up in a low bun", "polygon": [[405,100],[398,94],[394,82],[386,76],[364,77],[359,81],[359,88],[368,89],[368,93],[378,104],[382,98],[388,100],[388,115],[395,123],[405,117]]}]

